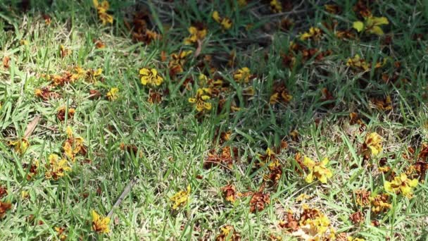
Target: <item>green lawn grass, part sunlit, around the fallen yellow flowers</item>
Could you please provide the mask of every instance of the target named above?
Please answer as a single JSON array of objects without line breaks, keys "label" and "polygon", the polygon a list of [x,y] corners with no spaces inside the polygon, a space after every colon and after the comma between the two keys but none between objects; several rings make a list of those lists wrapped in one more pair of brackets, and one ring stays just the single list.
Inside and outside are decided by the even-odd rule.
[{"label": "green lawn grass, part sunlit, around the fallen yellow flowers", "polygon": [[[114,21],[107,25],[92,1],[32,1],[28,11],[0,4],[1,58],[10,58],[0,66],[0,204],[11,204],[3,213],[0,205],[0,240],[427,239],[424,1],[367,5],[389,20],[380,37],[353,30],[363,20],[357,1],[336,1],[338,13],[315,1],[290,9],[284,1],[283,13],[272,13],[269,1],[109,2]],[[160,39],[134,41],[135,9],[146,9],[138,19]],[[222,29],[213,11],[232,27]],[[294,22],[287,30],[279,25],[284,18]],[[207,29],[201,46],[183,44],[198,22]],[[311,26],[322,30],[320,39],[300,40]],[[354,37],[336,37],[339,30]],[[290,49],[292,42],[301,47]],[[182,73],[172,75],[170,55],[187,50]],[[367,70],[346,65],[355,54]],[[77,74],[77,66],[84,74],[52,84],[54,75]],[[247,83],[234,78],[244,67]],[[142,85],[141,68],[156,68],[163,83]],[[189,103],[200,87],[215,90],[201,73],[223,81],[220,94],[210,94],[210,111]],[[272,104],[280,84],[292,99]],[[44,87],[49,98],[37,97]],[[114,87],[118,98],[108,99]],[[148,100],[154,92],[163,95],[158,104]],[[379,154],[367,143],[372,132],[382,139]],[[23,137],[30,147],[20,153],[10,142]],[[64,143],[75,148],[76,137],[85,152],[73,159]],[[268,148],[275,154],[267,156]],[[71,168],[58,180],[46,176],[51,154]],[[306,182],[303,156],[330,160],[327,183]],[[401,173],[418,180],[413,197],[386,190]],[[131,180],[131,192],[113,206]],[[372,199],[385,194],[391,206],[379,213],[372,201],[362,206],[358,190]],[[184,202],[174,209],[177,193]],[[101,218],[113,210],[108,232],[94,230],[93,210]]]}]

